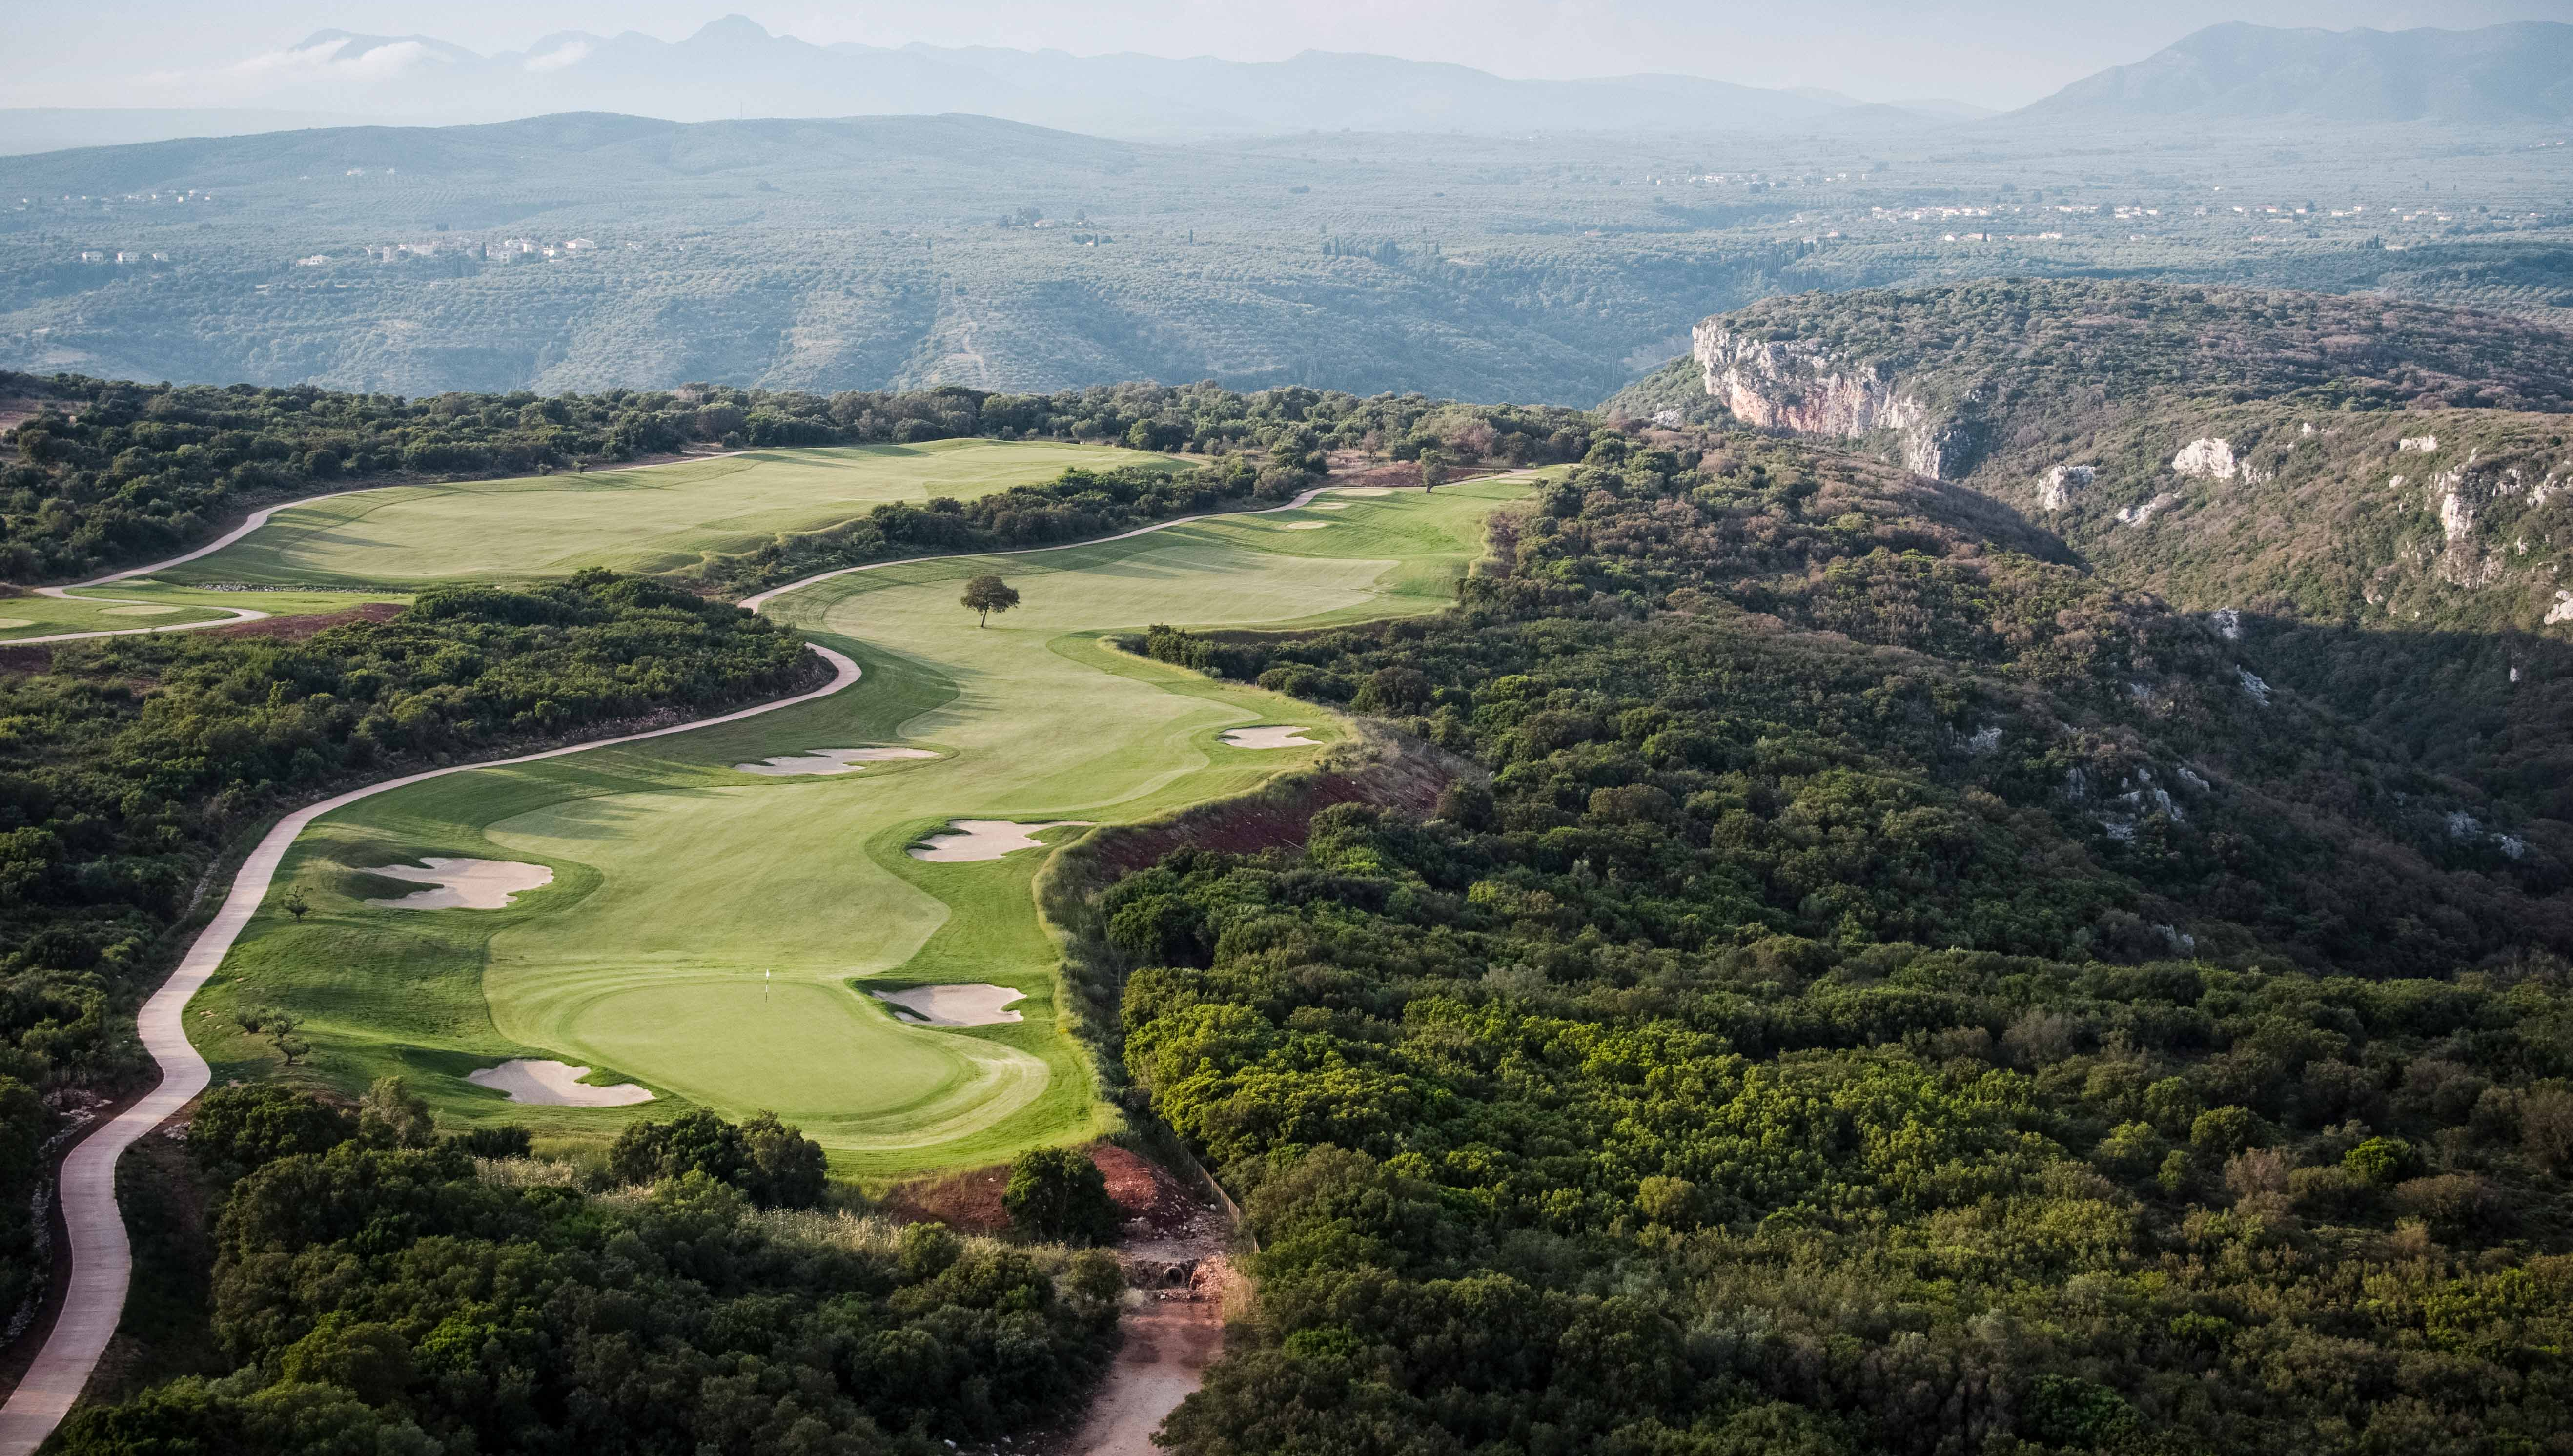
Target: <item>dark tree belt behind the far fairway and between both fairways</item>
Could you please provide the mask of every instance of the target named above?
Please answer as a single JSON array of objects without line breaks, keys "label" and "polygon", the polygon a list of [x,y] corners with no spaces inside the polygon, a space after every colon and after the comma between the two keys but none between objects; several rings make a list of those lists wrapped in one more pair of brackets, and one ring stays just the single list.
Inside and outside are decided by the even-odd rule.
[{"label": "dark tree belt behind the far fairway and between both fairways", "polygon": [[[1232,394],[1214,386],[1099,386],[1045,396],[934,388],[921,394],[780,394],[684,386],[607,394],[440,394],[394,399],[319,388],[144,386],[0,373],[0,399],[31,417],[0,453],[0,581],[46,581],[149,561],[208,535],[224,517],[334,486],[530,476],[687,448],[908,445],[916,440],[1091,440],[1227,458],[1178,494],[1145,476],[1109,486],[1078,476],[973,502],[955,520],[911,507],[870,527],[805,538],[720,563],[720,584],[774,581],[785,566],[847,566],[870,551],[1042,545],[1112,525],[1271,499],[1320,471],[1328,450],[1410,460],[1567,460],[1590,445],[1590,417],[1549,406],[1467,406],[1315,388]],[[1243,458],[1250,455],[1250,458]],[[1153,496],[1153,499],[1137,499]],[[1014,520],[1003,520],[1014,517]],[[973,527],[960,532],[957,527]]]}]

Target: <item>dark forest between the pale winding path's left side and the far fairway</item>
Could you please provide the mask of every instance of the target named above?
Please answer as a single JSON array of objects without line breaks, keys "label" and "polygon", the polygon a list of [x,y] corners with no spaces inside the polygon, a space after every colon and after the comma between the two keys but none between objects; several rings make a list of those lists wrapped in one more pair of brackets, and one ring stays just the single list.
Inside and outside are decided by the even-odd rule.
[{"label": "dark forest between the pale winding path's left side and the far fairway", "polygon": [[28,1188],[67,1124],[36,1093],[149,1075],[134,1006],[244,831],[353,777],[772,697],[808,664],[762,617],[607,571],[309,635],[0,653],[0,1309],[44,1273]]}]

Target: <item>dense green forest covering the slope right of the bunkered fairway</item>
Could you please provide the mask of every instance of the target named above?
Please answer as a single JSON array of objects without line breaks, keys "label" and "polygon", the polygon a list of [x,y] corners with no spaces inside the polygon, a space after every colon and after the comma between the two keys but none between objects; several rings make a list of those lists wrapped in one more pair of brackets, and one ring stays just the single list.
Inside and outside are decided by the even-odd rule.
[{"label": "dense green forest covering the slope right of the bunkered fairway", "polygon": [[1101,903],[1261,1237],[1178,1451],[2573,1448],[2573,828],[1873,460],[1492,545],[1135,641],[1490,774]]}]

